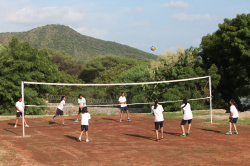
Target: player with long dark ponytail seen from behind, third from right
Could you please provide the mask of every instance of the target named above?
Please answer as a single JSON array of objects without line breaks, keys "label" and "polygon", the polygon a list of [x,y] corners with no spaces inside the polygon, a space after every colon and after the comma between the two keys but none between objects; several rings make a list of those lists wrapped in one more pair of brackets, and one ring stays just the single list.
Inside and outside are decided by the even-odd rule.
[{"label": "player with long dark ponytail seen from behind, third from right", "polygon": [[[163,123],[164,123],[164,117],[163,117],[163,107],[162,105],[159,105],[159,100],[155,99],[155,104],[151,107],[151,113],[153,113],[155,117],[155,133],[156,133],[156,141],[163,140]],[[161,139],[159,139],[159,126],[161,129]]]}]

